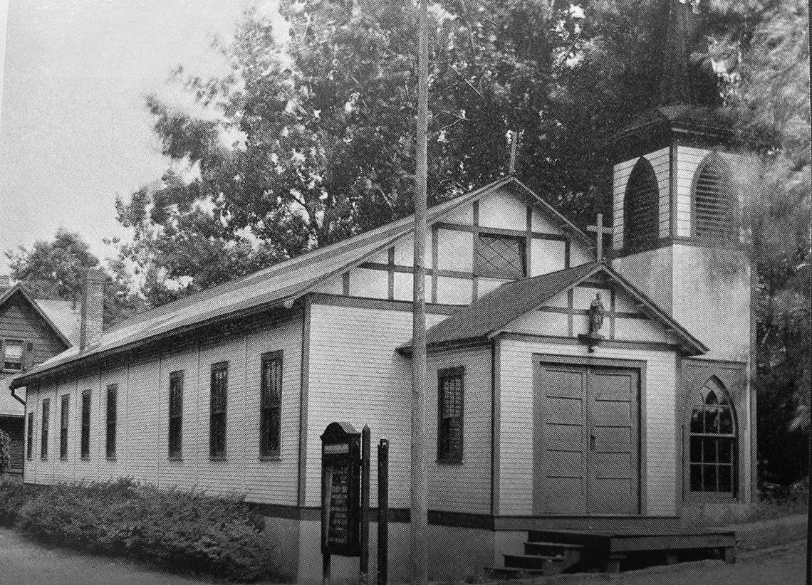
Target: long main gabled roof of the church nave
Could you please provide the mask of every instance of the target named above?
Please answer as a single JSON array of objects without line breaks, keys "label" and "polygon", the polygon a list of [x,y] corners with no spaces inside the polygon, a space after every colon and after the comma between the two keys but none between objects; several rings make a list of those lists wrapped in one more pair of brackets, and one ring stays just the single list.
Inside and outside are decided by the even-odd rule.
[{"label": "long main gabled roof of the church nave", "polygon": [[[580,239],[585,246],[590,246],[591,239],[580,228],[512,175],[432,206],[427,210],[427,222],[432,224],[442,221],[461,205],[473,203],[500,188],[510,188],[519,196],[537,204],[546,213],[555,217],[562,230]],[[330,277],[360,265],[370,256],[407,237],[412,233],[413,222],[413,216],[404,217],[397,222],[317,248],[313,252],[286,260],[257,273],[149,309],[106,330],[98,346],[81,354],[78,346],[71,347],[25,374],[17,376],[12,382],[12,387],[24,386],[45,372],[54,374],[63,367],[72,367],[79,362],[111,355],[147,340],[166,338],[231,316],[244,316],[279,306],[291,308],[296,299],[300,299]]]}]

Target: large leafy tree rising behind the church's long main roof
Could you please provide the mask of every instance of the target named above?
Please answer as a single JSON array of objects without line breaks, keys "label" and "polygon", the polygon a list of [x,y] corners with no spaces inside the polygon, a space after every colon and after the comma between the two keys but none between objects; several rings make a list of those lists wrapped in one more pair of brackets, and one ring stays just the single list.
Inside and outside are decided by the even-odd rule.
[{"label": "large leafy tree rising behind the church's long main roof", "polygon": [[[640,0],[444,0],[432,11],[430,200],[507,170],[578,217],[594,211],[594,138],[655,97],[660,31]],[[171,159],[119,200],[121,258],[151,303],[185,295],[409,213],[413,11],[403,2],[286,3],[284,45],[249,12],[216,48],[229,75],[175,70],[147,105]],[[596,84],[596,80],[599,80]],[[654,80],[654,81],[653,81]],[[179,95],[188,99],[180,100]],[[586,113],[586,114],[585,114]],[[221,268],[212,260],[224,258]]]}]

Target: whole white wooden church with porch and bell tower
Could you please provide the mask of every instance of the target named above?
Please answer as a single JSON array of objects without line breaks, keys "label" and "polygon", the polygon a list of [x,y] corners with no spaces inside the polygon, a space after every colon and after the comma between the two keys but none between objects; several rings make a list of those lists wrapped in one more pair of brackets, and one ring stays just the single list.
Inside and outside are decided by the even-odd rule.
[{"label": "whole white wooden church with porch and bell tower", "polygon": [[[429,209],[434,577],[501,566],[529,531],[679,525],[750,501],[753,276],[711,119],[663,105],[619,132],[611,259],[514,175]],[[391,441],[404,578],[411,217],[104,332],[101,286],[91,274],[80,343],[12,384],[27,483],[245,493],[278,543],[270,561],[320,582],[319,437],[369,424]]]}]

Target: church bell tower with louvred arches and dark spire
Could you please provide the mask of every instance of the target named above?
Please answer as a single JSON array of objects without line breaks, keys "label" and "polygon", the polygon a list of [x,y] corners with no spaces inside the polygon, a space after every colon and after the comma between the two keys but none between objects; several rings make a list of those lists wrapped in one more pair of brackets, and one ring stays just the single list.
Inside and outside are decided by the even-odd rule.
[{"label": "church bell tower with louvred arches and dark spire", "polygon": [[711,348],[749,360],[750,266],[736,222],[738,157],[716,75],[694,48],[702,15],[664,0],[658,105],[611,137],[614,265]]}]

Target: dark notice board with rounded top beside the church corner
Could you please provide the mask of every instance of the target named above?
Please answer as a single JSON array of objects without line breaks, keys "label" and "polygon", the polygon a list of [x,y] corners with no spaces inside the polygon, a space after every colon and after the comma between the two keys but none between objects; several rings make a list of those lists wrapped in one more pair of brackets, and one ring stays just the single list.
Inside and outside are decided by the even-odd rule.
[{"label": "dark notice board with rounded top beside the church corner", "polygon": [[322,553],[361,556],[361,433],[330,423],[322,434]]}]

